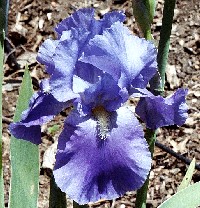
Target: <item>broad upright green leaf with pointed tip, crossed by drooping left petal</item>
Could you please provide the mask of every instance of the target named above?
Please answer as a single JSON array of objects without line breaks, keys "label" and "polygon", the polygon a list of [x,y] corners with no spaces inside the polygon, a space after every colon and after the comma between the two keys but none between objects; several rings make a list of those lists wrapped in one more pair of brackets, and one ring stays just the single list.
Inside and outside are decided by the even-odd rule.
[{"label": "broad upright green leaf with pointed tip, crossed by drooping left petal", "polygon": [[[26,67],[14,122],[19,121],[21,113],[28,107],[33,94],[31,77]],[[9,208],[36,208],[39,184],[38,146],[28,141],[11,137],[11,186]]]}]

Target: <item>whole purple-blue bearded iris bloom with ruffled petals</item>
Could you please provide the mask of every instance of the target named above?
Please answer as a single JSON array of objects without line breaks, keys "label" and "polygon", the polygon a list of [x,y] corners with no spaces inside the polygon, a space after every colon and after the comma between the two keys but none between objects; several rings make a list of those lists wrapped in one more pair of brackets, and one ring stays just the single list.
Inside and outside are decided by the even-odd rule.
[{"label": "whole purple-blue bearded iris bloom with ruffled petals", "polygon": [[96,20],[93,9],[81,9],[58,24],[57,39],[46,40],[37,57],[50,78],[41,82],[21,121],[10,126],[15,137],[39,144],[40,126],[73,106],[53,173],[79,204],[117,198],[147,178],[151,154],[126,104],[130,96],[141,97],[136,114],[148,128],[182,125],[187,118],[186,90],[167,98],[146,90],[157,72],[157,51],[133,36],[124,19],[122,12],[111,12]]}]

